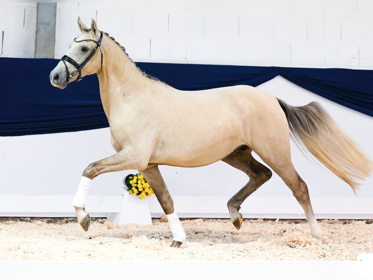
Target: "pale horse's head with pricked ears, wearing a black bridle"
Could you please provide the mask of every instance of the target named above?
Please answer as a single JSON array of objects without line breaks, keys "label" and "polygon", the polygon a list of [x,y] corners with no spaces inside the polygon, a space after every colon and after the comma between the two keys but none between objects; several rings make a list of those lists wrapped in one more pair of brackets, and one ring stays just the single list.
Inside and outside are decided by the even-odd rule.
[{"label": "pale horse's head with pricked ears, wearing a black bridle", "polygon": [[[79,81],[84,76],[98,74],[102,70],[101,40],[103,34],[92,19],[89,29],[78,18],[81,34],[71,42],[69,51],[61,58],[49,79],[53,86],[64,89],[69,82]],[[99,49],[99,52],[96,50]]]}]

